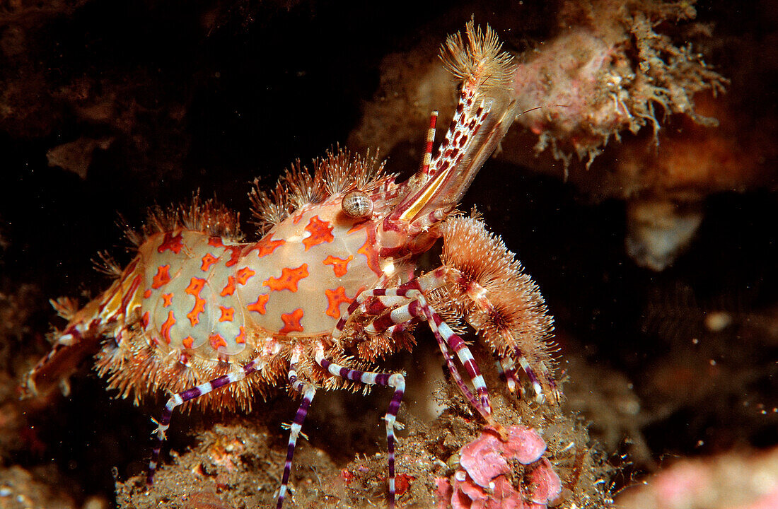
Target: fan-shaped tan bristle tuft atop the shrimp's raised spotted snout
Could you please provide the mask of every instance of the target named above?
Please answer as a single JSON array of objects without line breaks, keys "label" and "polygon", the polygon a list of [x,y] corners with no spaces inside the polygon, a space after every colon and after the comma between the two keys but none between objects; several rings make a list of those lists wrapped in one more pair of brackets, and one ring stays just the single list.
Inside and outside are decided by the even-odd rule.
[{"label": "fan-shaped tan bristle tuft atop the shrimp's raised spotted snout", "polygon": [[450,35],[440,47],[443,65],[461,80],[466,89],[484,92],[495,87],[506,87],[513,75],[513,58],[501,53],[503,44],[488,25],[482,31],[471,19],[465,27],[467,41],[457,32]]}]

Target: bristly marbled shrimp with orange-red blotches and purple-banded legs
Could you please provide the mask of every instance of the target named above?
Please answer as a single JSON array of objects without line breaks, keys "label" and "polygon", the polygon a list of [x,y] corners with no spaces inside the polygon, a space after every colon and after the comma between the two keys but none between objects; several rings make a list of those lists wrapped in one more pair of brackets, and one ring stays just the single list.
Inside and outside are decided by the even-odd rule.
[{"label": "bristly marbled shrimp with orange-red blotches and purple-banded legs", "polygon": [[[251,410],[257,396],[286,388],[301,396],[290,426],[277,507],[286,497],[297,438],[319,389],[391,388],[385,417],[388,504],[394,507],[394,427],[405,375],[377,361],[412,350],[412,330],[433,331],[452,379],[492,426],[489,391],[470,348],[444,317],[464,319],[497,357],[509,389],[523,371],[537,399],[556,398],[548,316],[537,286],[502,240],[457,204],[515,117],[510,56],[496,35],[469,23],[449,37],[443,64],[461,81],[454,118],[434,151],[437,113],[417,173],[398,183],[369,155],[328,152],[312,171],[299,163],[274,190],[254,189],[258,242],[237,214],[197,196],[156,209],[130,232],[135,256],[114,284],[78,308],[51,353],[26,380],[28,393],[56,385],[96,353],[111,389],[136,402],[172,392],[156,427],[149,464],[177,406]],[[443,239],[440,267],[416,260]],[[464,368],[464,376],[460,369]],[[469,384],[468,384],[469,381]]]}]

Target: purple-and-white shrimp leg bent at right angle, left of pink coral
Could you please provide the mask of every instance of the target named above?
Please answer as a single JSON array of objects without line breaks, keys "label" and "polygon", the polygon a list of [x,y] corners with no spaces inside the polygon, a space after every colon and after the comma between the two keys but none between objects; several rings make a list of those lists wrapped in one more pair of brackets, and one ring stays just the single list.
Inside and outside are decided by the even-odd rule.
[{"label": "purple-and-white shrimp leg bent at right angle, left of pink coral", "polygon": [[389,457],[389,509],[394,507],[394,423],[397,420],[397,413],[400,410],[402,395],[405,393],[405,377],[400,373],[379,373],[376,371],[359,371],[358,369],[346,368],[324,358],[324,348],[319,347],[316,351],[316,363],[330,372],[331,375],[339,376],[353,382],[362,382],[366,385],[384,385],[394,388],[387,410],[387,456]]}]

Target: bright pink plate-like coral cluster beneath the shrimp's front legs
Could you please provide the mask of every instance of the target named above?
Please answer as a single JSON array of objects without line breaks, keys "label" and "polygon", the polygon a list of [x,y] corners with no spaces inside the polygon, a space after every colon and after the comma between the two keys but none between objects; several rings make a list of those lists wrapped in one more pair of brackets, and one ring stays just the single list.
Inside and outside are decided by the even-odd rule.
[{"label": "bright pink plate-like coral cluster beneath the shrimp's front legs", "polygon": [[[487,427],[460,451],[460,466],[452,479],[436,479],[438,507],[445,509],[542,509],[562,491],[546,446],[537,431],[513,426],[503,441]],[[511,483],[510,460],[524,467],[524,479]]]}]

